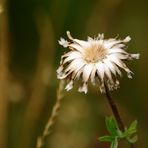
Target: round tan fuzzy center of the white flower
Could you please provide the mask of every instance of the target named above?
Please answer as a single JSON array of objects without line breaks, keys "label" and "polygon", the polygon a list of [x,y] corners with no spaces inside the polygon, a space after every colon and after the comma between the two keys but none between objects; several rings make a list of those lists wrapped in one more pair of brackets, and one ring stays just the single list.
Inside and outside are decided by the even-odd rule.
[{"label": "round tan fuzzy center of the white flower", "polygon": [[102,44],[98,45],[96,43],[90,45],[90,47],[84,50],[84,59],[87,62],[98,62],[104,59],[106,56],[106,49]]}]

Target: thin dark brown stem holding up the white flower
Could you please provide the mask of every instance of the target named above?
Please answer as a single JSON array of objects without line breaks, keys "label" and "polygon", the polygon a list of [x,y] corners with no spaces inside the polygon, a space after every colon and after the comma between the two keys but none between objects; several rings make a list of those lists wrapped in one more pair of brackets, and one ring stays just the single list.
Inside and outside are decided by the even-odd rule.
[{"label": "thin dark brown stem holding up the white flower", "polygon": [[[105,92],[106,92],[107,101],[108,101],[108,103],[109,103],[109,105],[111,107],[111,110],[112,110],[112,112],[114,114],[114,117],[115,117],[115,119],[116,119],[116,121],[118,123],[119,129],[124,132],[125,131],[124,123],[122,121],[122,118],[121,118],[121,115],[119,113],[118,107],[117,107],[116,103],[114,102],[114,100],[112,99],[106,84],[105,84]],[[130,145],[131,148],[135,148],[134,144],[129,143],[129,145]]]}]

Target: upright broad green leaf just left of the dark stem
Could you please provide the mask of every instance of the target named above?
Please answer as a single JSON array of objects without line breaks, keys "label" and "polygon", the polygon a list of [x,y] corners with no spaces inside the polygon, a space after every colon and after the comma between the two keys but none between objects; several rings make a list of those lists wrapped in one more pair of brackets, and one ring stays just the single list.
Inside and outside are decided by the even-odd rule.
[{"label": "upright broad green leaf just left of the dark stem", "polygon": [[118,125],[116,120],[113,117],[106,117],[105,119],[107,130],[110,132],[111,135],[118,136]]}]

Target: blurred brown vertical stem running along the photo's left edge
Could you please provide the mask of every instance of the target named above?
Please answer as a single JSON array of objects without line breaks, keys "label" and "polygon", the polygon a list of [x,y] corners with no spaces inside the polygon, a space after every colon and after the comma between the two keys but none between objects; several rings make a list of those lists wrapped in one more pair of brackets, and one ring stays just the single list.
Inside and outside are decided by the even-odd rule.
[{"label": "blurred brown vertical stem running along the photo's left edge", "polygon": [[7,146],[8,17],[6,0],[0,0],[0,147]]}]

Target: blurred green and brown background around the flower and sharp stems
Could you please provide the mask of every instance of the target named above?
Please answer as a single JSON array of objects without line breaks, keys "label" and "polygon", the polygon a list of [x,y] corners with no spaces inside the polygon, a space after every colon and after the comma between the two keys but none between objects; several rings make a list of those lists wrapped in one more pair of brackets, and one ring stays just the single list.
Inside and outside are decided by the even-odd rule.
[{"label": "blurred green and brown background around the flower and sharp stems", "polygon": [[[105,33],[130,35],[128,51],[140,60],[128,63],[132,80],[121,79],[112,93],[124,123],[138,120],[137,148],[148,147],[148,1],[146,0],[0,0],[0,148],[33,148],[56,100],[56,69],[66,31],[79,39]],[[77,85],[65,92],[60,115],[46,148],[108,148],[97,138],[107,134],[111,115],[104,95]],[[128,145],[121,141],[119,148]]]}]

